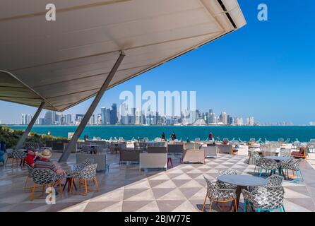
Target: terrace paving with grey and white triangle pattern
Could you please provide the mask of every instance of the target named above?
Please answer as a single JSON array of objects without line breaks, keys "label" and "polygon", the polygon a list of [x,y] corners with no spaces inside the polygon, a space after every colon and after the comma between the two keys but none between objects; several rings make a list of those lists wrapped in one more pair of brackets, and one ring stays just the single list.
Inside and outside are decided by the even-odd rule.
[{"label": "terrace paving with grey and white triangle pattern", "polygon": [[[54,157],[57,159],[58,155]],[[26,169],[11,169],[7,165],[0,167],[0,211],[200,211],[206,194],[203,176],[215,181],[223,169],[253,174],[254,166],[248,165],[246,159],[244,155],[219,155],[217,159],[206,160],[206,165],[180,165],[175,157],[174,168],[166,173],[139,172],[138,165],[119,165],[118,155],[109,155],[109,172],[97,173],[100,192],[88,196],[64,192],[57,196],[55,205],[47,205],[44,198],[30,201],[30,194],[23,191]],[[71,155],[63,167],[69,169],[74,160]],[[302,170],[304,182],[283,184],[286,211],[315,210],[315,170],[306,161],[302,162]]]}]

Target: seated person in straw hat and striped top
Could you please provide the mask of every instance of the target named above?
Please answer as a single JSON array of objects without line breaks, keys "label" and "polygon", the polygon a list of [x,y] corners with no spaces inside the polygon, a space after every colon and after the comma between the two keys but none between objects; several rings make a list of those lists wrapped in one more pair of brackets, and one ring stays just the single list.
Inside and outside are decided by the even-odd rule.
[{"label": "seated person in straw hat and striped top", "polygon": [[66,174],[66,172],[61,169],[60,165],[57,162],[53,162],[52,160],[50,160],[50,157],[52,157],[52,153],[50,150],[45,149],[42,153],[37,153],[37,157],[39,158],[35,161],[34,168],[52,169],[52,171],[60,175],[59,179],[64,177],[64,175]]}]

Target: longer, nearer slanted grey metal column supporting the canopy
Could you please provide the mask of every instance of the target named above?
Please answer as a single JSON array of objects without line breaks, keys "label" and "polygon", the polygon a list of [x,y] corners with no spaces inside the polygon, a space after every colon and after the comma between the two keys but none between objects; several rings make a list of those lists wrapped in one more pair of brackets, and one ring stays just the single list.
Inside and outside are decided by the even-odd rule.
[{"label": "longer, nearer slanted grey metal column supporting the canopy", "polygon": [[76,143],[78,141],[78,138],[81,136],[81,133],[83,132],[83,129],[85,128],[86,124],[88,124],[90,117],[92,116],[93,112],[95,111],[95,108],[97,107],[98,103],[100,102],[100,99],[104,95],[107,87],[109,86],[110,81],[112,81],[112,78],[114,77],[114,74],[116,73],[116,71],[117,71],[119,65],[121,64],[121,61],[124,59],[124,57],[125,57],[124,52],[121,52],[116,63],[114,64],[114,67],[109,72],[105,82],[103,83],[102,87],[100,88],[100,91],[97,93],[92,104],[88,108],[88,112],[86,112],[86,114],[84,115],[80,125],[76,129],[76,132],[73,134],[71,141],[67,145],[66,150],[64,150],[64,153],[62,153],[58,162],[66,162],[66,160],[68,159],[68,157],[71,153],[71,150],[74,150],[76,148]]}]

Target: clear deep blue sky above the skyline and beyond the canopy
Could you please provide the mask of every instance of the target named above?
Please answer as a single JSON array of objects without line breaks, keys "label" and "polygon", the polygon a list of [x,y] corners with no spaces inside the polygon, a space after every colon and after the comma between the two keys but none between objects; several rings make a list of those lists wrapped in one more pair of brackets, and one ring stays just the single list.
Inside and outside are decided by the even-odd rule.
[{"label": "clear deep blue sky above the skyline and beyond the canopy", "polygon": [[[267,4],[268,21],[257,20]],[[239,0],[247,25],[189,54],[133,78],[102,97],[119,102],[124,90],[196,90],[197,109],[224,111],[256,121],[315,121],[314,0]],[[83,113],[91,100],[66,112]],[[2,123],[20,122],[34,107],[0,101]]]}]

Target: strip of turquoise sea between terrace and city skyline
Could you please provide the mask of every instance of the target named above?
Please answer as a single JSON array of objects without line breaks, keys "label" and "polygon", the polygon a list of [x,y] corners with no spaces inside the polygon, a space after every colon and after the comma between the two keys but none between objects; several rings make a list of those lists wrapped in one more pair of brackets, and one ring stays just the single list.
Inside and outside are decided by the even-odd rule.
[{"label": "strip of turquoise sea between terrace and city skyline", "polygon": [[[10,126],[12,129],[25,129],[25,126]],[[68,132],[74,132],[76,126],[34,126],[32,131],[37,133],[47,134],[51,131],[52,136],[68,137]],[[309,141],[315,138],[315,126],[86,126],[81,138],[88,135],[89,138],[100,137],[110,138],[116,136],[124,137],[125,139],[148,137],[153,140],[155,137],[160,137],[162,132],[165,132],[169,138],[172,131],[177,135],[177,138],[189,138],[193,140],[196,137],[201,140],[208,138],[210,131],[213,135],[222,138],[241,138],[242,141],[249,141],[250,138],[262,138],[265,141],[278,141],[278,138],[290,138],[295,141]]]}]

